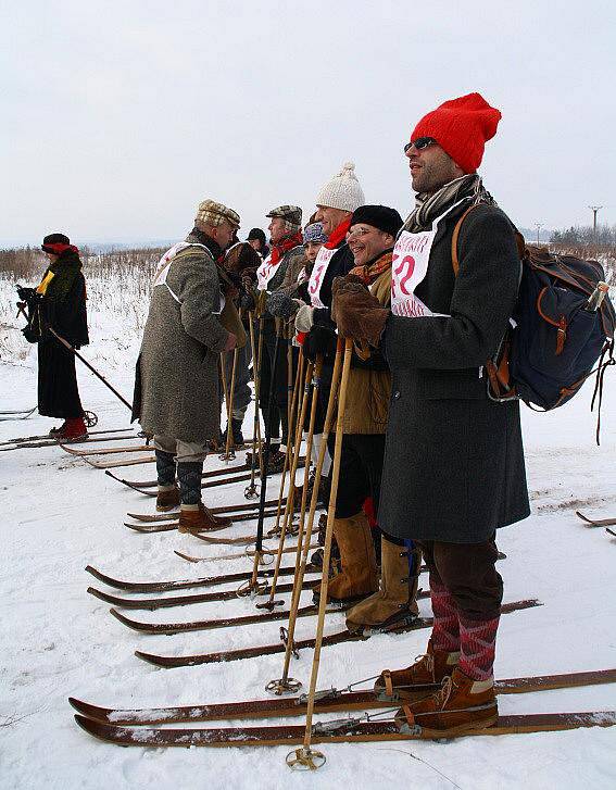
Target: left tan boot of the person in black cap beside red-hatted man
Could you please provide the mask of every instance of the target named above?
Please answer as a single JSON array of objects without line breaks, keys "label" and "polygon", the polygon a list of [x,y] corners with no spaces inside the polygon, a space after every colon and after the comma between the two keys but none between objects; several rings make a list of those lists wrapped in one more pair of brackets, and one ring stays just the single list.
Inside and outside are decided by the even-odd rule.
[{"label": "left tan boot of the person in black cap beside red-hatted man", "polygon": [[341,572],[329,582],[328,601],[351,603],[376,592],[375,547],[365,513],[362,511],[351,518],[336,518],[334,534],[340,550]]}]

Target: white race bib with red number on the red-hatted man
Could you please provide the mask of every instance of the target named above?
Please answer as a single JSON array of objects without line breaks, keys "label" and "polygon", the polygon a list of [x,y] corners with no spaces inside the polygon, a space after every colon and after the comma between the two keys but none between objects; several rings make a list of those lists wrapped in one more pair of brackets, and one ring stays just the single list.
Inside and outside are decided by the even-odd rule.
[{"label": "white race bib with red number on the red-hatted man", "polygon": [[433,313],[415,296],[415,289],[428,271],[430,251],[435,242],[440,221],[463,201],[460,200],[438,216],[430,230],[411,234],[403,230],[393,248],[391,261],[391,312],[405,318],[420,318],[428,315],[447,316],[447,313]]}]

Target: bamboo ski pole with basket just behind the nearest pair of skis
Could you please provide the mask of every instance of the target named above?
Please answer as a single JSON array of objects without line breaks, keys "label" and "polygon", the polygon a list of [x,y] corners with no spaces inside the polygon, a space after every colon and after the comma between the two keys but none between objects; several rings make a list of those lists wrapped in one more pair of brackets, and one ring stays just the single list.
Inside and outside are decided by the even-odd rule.
[{"label": "bamboo ski pole with basket just behind the nearest pair of skis", "polygon": [[[336,358],[334,360],[334,371],[331,374],[331,387],[329,390],[329,398],[327,401],[327,412],[325,415],[325,424],[323,427],[323,441],[318,449],[318,457],[317,457],[316,469],[315,469],[315,480],[318,480],[320,478],[320,474],[323,472],[323,464],[325,462],[325,453],[327,452],[327,439],[329,437],[329,431],[331,429],[331,423],[334,422],[334,412],[336,409],[336,393],[337,393],[337,389],[338,389],[338,383],[340,379],[341,361],[342,361],[342,350],[341,350],[341,346],[339,343],[338,348],[336,350]],[[313,410],[316,411],[316,403],[314,401],[313,401]],[[311,413],[311,419],[312,419],[312,413]],[[303,499],[303,497],[302,497],[302,499]],[[291,606],[290,606],[290,612],[289,612],[289,625],[287,628],[288,637],[287,637],[287,645],[286,645],[286,650],[285,650],[285,660],[284,660],[284,665],[282,665],[282,676],[278,680],[272,680],[265,687],[266,691],[269,691],[271,693],[275,693],[277,695],[288,693],[288,692],[294,693],[302,686],[299,680],[289,678],[289,666],[291,663],[291,655],[293,653],[293,638],[294,638],[294,634],[296,634],[297,614],[298,614],[298,609],[300,605],[300,595],[301,595],[302,585],[304,581],[305,569],[306,569],[306,565],[307,565],[310,541],[311,541],[311,537],[312,537],[312,530],[314,527],[314,516],[316,513],[317,502],[318,502],[318,486],[315,485],[315,487],[312,490],[307,525],[306,525],[305,531],[303,534],[303,548],[302,548],[301,564],[300,564],[299,570],[296,573],[296,576],[293,579],[293,592],[291,594]],[[301,528],[301,521],[300,521],[300,528]],[[301,541],[301,539],[298,537],[298,544],[300,543],[300,541]],[[298,560],[296,556],[296,568],[297,567],[298,567]],[[327,566],[324,565],[323,567],[324,567],[324,572],[325,572],[325,568],[327,567],[327,572],[325,572],[325,573],[329,573],[329,564]]]}]

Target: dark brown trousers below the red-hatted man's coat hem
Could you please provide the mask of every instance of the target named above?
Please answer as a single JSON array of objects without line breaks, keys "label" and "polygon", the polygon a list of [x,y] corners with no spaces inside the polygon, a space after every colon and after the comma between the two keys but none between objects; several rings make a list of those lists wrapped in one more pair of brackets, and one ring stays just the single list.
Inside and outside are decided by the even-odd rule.
[{"label": "dark brown trousers below the red-hatted man's coat hem", "polygon": [[430,586],[443,585],[460,614],[468,619],[498,617],[503,600],[503,579],[495,568],[499,556],[494,536],[483,543],[444,543],[417,540],[430,572]]}]

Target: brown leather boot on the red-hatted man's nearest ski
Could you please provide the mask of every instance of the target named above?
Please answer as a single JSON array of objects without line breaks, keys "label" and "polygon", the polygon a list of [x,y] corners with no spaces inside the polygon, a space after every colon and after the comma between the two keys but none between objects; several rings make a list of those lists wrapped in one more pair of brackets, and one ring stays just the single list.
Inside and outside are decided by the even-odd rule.
[{"label": "brown leather boot on the red-hatted man's nearest ski", "polygon": [[443,680],[436,694],[408,702],[395,714],[402,732],[419,726],[425,735],[457,736],[496,723],[499,706],[494,680],[473,680],[457,667]]}]

